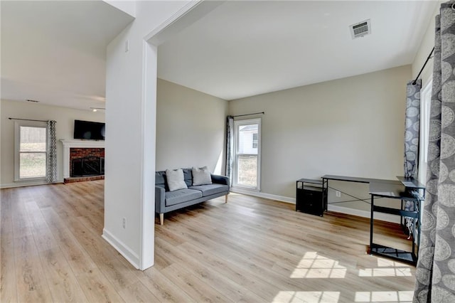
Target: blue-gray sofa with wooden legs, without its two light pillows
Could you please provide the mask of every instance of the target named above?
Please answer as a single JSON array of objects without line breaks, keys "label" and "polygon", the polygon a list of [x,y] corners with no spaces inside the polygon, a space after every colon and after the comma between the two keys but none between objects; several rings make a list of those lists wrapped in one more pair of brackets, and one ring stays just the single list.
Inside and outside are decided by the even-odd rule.
[{"label": "blue-gray sofa with wooden legs, without its two light pillows", "polygon": [[226,196],[228,203],[229,178],[211,174],[212,184],[193,186],[191,169],[183,169],[183,179],[188,188],[169,191],[166,181],[166,171],[155,173],[155,212],[159,213],[160,224],[164,223],[164,213],[208,201],[220,196]]}]

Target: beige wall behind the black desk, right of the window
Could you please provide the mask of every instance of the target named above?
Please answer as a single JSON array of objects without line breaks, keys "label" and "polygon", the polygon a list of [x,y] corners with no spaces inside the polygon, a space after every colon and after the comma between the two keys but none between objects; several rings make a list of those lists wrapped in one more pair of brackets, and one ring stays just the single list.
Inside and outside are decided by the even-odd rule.
[{"label": "beige wall behind the black desk, right of the window", "polygon": [[[410,78],[411,66],[406,65],[230,101],[230,115],[265,112],[262,193],[294,201],[300,178],[333,174],[395,179],[402,175]],[[350,186],[346,182],[336,186],[353,195],[363,191],[359,196],[365,196],[363,188],[345,188]],[[343,206],[365,209],[362,204],[367,206],[361,202]]]}]

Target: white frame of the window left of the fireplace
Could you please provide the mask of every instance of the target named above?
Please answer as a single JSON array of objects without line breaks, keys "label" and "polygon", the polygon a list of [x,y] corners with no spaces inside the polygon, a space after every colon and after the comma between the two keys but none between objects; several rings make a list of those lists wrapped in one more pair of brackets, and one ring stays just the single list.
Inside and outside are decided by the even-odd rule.
[{"label": "white frame of the window left of the fireplace", "polygon": [[[21,127],[41,127],[45,129],[45,151],[36,153],[45,154],[46,174],[40,177],[21,178]],[[47,176],[48,159],[48,126],[41,121],[15,121],[14,122],[14,182],[45,181]]]}]

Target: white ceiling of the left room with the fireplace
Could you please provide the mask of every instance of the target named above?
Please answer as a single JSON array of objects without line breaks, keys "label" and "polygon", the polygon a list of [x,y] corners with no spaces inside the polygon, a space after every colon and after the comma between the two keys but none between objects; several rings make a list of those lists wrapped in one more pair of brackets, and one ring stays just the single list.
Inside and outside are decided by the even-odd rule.
[{"label": "white ceiling of the left room with the fireplace", "polygon": [[103,1],[1,1],[1,99],[105,107],[107,43],[134,18]]}]

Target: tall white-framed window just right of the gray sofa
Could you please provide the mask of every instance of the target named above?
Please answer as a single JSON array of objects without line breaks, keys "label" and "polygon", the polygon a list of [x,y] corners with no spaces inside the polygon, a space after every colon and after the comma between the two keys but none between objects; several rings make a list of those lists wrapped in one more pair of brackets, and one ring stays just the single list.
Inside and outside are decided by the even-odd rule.
[{"label": "tall white-framed window just right of the gray sofa", "polygon": [[259,190],[261,120],[234,122],[233,186]]}]

